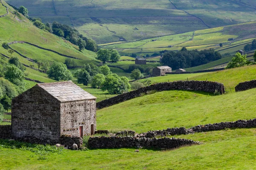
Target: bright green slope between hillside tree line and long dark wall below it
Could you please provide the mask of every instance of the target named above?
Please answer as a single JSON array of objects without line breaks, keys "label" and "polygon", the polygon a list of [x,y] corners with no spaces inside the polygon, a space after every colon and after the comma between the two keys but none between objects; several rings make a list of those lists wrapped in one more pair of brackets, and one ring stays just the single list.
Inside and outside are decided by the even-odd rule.
[{"label": "bright green slope between hillside tree line and long dark wall below it", "polygon": [[13,9],[9,7],[9,15],[0,18],[0,42],[26,41],[44,48],[58,51],[61,54],[85,60],[95,59],[95,53],[87,50],[84,50],[82,53],[79,52],[76,45],[73,45],[66,40],[62,40],[60,37],[50,34],[47,31],[36,28],[33,26],[32,22],[27,20],[25,17],[21,17],[20,21],[17,20],[11,13],[12,10]]}]

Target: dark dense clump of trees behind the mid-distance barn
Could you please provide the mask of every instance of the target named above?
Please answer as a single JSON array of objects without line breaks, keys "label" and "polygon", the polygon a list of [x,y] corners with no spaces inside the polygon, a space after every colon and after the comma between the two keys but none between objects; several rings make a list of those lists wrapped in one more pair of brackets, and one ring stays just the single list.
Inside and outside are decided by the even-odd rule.
[{"label": "dark dense clump of trees behind the mid-distance barn", "polygon": [[195,67],[218,59],[221,59],[221,54],[214,51],[214,49],[188,51],[183,47],[178,52],[168,51],[164,53],[161,63],[176,70],[179,68]]}]

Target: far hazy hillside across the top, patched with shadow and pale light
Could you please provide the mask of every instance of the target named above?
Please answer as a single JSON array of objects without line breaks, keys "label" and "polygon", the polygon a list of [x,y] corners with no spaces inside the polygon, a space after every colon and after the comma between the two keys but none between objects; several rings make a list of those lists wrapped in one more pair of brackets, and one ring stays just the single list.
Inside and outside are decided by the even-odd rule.
[{"label": "far hazy hillside across the top, patched with shadow and pale light", "polygon": [[[6,0],[30,17],[74,26],[98,43],[137,40],[255,20],[253,0]],[[218,12],[217,12],[218,11]]]}]

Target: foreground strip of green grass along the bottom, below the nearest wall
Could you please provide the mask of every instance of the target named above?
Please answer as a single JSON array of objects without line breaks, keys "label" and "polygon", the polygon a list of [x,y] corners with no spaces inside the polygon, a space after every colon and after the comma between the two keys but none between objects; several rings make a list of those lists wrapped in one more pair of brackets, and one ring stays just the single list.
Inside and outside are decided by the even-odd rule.
[{"label": "foreground strip of green grass along the bottom, below the nearest wall", "polygon": [[[203,142],[201,145],[175,150],[97,149],[63,150],[50,153],[45,160],[31,151],[0,147],[3,169],[253,169],[256,166],[254,141],[256,129],[221,130],[194,135],[175,136]],[[82,160],[82,161],[81,161]],[[75,162],[75,163],[74,163]]]}]

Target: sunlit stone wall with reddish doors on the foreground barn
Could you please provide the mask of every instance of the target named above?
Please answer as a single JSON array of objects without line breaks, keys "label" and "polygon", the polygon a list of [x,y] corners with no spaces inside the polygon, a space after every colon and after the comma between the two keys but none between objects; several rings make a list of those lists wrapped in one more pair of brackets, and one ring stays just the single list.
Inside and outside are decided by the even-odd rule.
[{"label": "sunlit stone wall with reddish doors on the foreground barn", "polygon": [[61,103],[61,135],[79,137],[79,127],[90,134],[91,125],[96,130],[96,100]]}]

